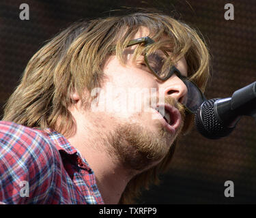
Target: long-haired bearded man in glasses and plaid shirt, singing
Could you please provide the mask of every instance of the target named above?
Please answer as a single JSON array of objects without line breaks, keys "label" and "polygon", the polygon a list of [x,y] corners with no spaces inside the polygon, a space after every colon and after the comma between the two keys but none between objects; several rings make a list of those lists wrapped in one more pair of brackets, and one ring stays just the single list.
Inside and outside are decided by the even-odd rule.
[{"label": "long-haired bearded man in glasses and plaid shirt, singing", "polygon": [[168,168],[208,74],[199,35],[164,14],[62,31],[31,58],[5,106],[0,201],[132,203]]}]

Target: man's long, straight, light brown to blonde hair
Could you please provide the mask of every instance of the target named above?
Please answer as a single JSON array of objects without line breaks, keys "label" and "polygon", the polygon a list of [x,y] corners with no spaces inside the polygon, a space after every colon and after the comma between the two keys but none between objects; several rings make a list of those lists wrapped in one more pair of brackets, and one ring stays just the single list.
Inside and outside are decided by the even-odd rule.
[{"label": "man's long, straight, light brown to blonde hair", "polygon": [[[68,111],[68,106],[73,104],[71,94],[76,91],[82,97],[85,89],[100,87],[104,81],[102,65],[113,46],[122,60],[124,48],[141,26],[149,29],[154,40],[162,35],[169,37],[175,55],[186,58],[188,76],[204,91],[210,56],[197,31],[165,14],[138,12],[76,22],[61,31],[27,64],[20,84],[5,105],[3,120],[70,134],[74,127]],[[61,122],[57,123],[59,117]],[[193,116],[186,117],[183,132],[188,131],[192,120]],[[132,203],[141,187],[158,183],[158,174],[170,165],[175,144],[157,166],[132,178],[119,203]]]}]

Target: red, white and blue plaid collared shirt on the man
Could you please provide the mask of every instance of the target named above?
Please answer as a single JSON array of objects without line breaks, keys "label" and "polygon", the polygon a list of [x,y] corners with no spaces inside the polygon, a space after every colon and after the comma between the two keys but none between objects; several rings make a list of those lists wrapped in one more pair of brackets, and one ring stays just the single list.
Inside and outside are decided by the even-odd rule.
[{"label": "red, white and blue plaid collared shirt on the man", "polygon": [[61,134],[0,121],[0,204],[104,202],[94,172]]}]

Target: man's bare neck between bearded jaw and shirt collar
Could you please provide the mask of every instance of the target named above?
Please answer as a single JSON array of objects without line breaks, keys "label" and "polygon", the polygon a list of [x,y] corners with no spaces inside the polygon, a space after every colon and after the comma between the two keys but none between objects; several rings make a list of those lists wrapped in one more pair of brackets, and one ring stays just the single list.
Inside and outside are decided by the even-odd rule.
[{"label": "man's bare neck between bearded jaw and shirt collar", "polygon": [[[115,153],[109,155],[106,148],[111,148],[107,140],[103,140],[102,131],[76,129],[76,134],[68,138],[69,142],[89,163],[94,171],[98,189],[105,204],[118,204],[126,185],[134,176],[119,163]],[[93,130],[93,131],[92,131]]]}]

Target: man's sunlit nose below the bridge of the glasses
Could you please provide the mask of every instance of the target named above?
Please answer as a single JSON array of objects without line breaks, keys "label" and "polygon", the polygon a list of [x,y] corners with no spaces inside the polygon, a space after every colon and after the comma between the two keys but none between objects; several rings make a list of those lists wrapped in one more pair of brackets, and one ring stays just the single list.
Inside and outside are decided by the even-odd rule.
[{"label": "man's sunlit nose below the bridge of the glasses", "polygon": [[183,103],[188,93],[186,84],[175,74],[165,83],[165,96],[171,96],[175,98],[177,102]]}]

